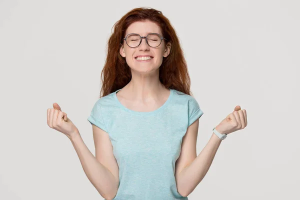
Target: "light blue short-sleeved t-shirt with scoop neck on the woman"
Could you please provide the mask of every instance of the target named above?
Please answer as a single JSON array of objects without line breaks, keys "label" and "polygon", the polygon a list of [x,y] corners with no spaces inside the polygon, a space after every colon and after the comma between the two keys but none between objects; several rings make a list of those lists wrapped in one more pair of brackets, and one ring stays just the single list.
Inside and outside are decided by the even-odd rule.
[{"label": "light blue short-sleeved t-shirt with scoop neck on the woman", "polygon": [[177,191],[175,162],[187,127],[203,111],[194,97],[170,89],[154,111],[126,108],[116,92],[100,97],[87,120],[106,131],[119,166],[114,200],[184,199]]}]

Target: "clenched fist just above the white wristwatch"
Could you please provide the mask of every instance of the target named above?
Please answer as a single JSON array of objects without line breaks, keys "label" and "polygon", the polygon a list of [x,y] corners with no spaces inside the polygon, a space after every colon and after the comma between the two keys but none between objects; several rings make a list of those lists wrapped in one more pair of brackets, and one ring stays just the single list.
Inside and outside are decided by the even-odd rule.
[{"label": "clenched fist just above the white wristwatch", "polygon": [[224,118],[215,129],[221,134],[229,134],[247,126],[247,114],[245,109],[236,105],[234,111]]}]

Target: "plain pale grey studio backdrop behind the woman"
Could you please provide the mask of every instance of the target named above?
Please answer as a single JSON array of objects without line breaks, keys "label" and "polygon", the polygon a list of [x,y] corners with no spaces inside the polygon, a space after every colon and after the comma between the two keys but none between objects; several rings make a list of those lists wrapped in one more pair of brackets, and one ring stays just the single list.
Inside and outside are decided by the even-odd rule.
[{"label": "plain pale grey studio backdrop behind the woman", "polygon": [[204,112],[197,155],[235,105],[247,111],[188,198],[300,199],[297,0],[0,0],[0,199],[102,199],[46,110],[57,102],[94,154],[87,117],[106,42],[140,6],[161,10],[179,36]]}]

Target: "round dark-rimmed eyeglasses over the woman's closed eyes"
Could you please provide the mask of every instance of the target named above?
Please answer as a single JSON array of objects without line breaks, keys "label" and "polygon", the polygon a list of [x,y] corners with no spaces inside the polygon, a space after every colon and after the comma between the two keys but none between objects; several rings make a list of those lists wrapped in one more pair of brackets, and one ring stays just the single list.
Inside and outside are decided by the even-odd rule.
[{"label": "round dark-rimmed eyeglasses over the woman's closed eyes", "polygon": [[137,33],[129,33],[125,36],[121,41],[125,40],[126,44],[129,47],[137,47],[140,43],[142,38],[146,39],[146,43],[151,47],[157,47],[161,44],[162,39],[167,40],[166,38],[160,36],[158,33],[149,33],[147,36],[140,36]]}]

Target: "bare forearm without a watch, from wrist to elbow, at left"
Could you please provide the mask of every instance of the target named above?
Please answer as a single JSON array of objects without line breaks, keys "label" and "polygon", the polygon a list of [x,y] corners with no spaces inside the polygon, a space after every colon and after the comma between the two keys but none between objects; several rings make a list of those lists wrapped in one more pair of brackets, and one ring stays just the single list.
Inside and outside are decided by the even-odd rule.
[{"label": "bare forearm without a watch, from wrist to elbow, at left", "polygon": [[89,181],[103,198],[112,199],[118,188],[114,175],[89,151],[79,132],[74,134],[70,140]]}]

